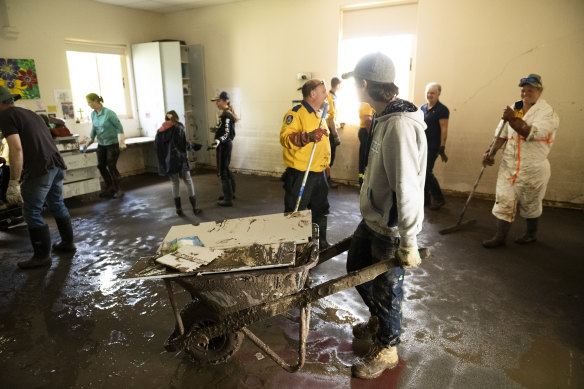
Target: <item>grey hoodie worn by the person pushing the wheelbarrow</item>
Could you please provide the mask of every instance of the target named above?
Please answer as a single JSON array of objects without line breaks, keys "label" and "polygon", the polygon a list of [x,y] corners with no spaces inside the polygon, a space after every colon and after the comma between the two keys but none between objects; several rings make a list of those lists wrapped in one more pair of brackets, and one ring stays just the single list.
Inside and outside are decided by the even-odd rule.
[{"label": "grey hoodie worn by the person pushing the wheelbarrow", "polygon": [[417,246],[424,221],[424,181],[428,146],[424,114],[396,100],[375,118],[361,187],[361,214],[373,231]]}]

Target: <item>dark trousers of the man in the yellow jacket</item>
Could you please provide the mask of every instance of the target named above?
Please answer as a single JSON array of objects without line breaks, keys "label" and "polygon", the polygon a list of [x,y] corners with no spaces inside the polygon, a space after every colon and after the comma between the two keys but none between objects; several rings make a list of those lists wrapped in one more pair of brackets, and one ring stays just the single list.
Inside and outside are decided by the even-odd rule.
[{"label": "dark trousers of the man in the yellow jacket", "polygon": [[[287,168],[282,175],[284,181],[284,212],[293,212],[298,201],[298,195],[302,186],[304,172]],[[328,215],[328,185],[322,172],[309,172],[302,193],[299,211],[310,209],[312,220]]]}]

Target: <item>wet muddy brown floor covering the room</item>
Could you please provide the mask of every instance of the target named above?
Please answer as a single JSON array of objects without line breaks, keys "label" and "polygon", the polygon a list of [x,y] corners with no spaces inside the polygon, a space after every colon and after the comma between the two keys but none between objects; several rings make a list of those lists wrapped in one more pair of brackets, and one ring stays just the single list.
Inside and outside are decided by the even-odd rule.
[{"label": "wet muddy brown floor covering the room", "polygon": [[[473,200],[477,223],[440,235],[465,198],[427,211],[422,246],[431,257],[405,280],[400,363],[376,380],[351,378],[367,351],[352,325],[368,318],[347,290],[313,305],[306,364],[282,370],[249,340],[227,363],[193,365],[163,343],[174,328],[162,281],[122,281],[140,256],[154,254],[172,225],[271,214],[283,209],[281,182],[236,175],[233,208],[216,203],[219,180],[194,174],[194,217],[173,209],[170,182],[125,178],[123,199],[70,199],[78,251],[53,255],[50,268],[19,270],[31,255],[25,227],[0,232],[0,387],[2,388],[582,388],[584,387],[584,218],[546,208],[540,240],[486,250],[494,228],[491,203]],[[184,188],[183,188],[184,190]],[[329,195],[328,238],[350,235],[360,221],[358,190]],[[186,194],[183,192],[183,201]],[[58,233],[47,216],[53,239]],[[515,223],[511,235],[523,229]],[[346,254],[317,266],[314,283],[345,274]],[[179,289],[179,288],[177,288]],[[186,292],[181,305],[190,301]],[[296,363],[299,311],[249,328],[288,363]]]}]

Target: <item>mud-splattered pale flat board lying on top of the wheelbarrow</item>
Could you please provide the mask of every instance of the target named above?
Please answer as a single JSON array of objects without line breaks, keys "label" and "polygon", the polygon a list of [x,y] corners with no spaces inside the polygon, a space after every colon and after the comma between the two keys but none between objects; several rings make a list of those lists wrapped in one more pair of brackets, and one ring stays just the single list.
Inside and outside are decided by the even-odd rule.
[{"label": "mud-splattered pale flat board lying on top of the wheelbarrow", "polygon": [[205,247],[227,249],[252,244],[307,243],[312,236],[310,210],[173,226],[158,248],[159,254],[178,238],[198,237]]}]

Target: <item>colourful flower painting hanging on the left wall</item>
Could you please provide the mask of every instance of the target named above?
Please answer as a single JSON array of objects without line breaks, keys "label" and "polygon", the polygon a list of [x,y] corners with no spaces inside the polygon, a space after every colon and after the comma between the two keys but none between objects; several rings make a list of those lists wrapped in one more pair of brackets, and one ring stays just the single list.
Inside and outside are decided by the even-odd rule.
[{"label": "colourful flower painting hanging on the left wall", "polygon": [[23,99],[39,99],[34,59],[0,58],[0,85]]}]

